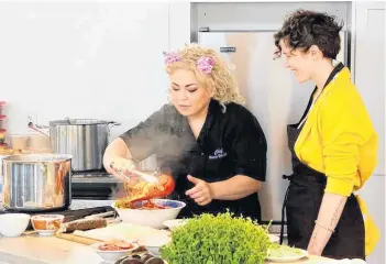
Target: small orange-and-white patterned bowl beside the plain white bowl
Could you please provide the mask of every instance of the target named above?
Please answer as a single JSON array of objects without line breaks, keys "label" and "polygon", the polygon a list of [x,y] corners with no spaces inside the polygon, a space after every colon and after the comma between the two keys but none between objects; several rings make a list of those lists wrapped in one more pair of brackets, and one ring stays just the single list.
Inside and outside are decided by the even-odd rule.
[{"label": "small orange-and-white patterned bowl beside the plain white bowl", "polygon": [[31,218],[32,227],[40,235],[53,235],[64,220],[62,215],[37,215]]}]

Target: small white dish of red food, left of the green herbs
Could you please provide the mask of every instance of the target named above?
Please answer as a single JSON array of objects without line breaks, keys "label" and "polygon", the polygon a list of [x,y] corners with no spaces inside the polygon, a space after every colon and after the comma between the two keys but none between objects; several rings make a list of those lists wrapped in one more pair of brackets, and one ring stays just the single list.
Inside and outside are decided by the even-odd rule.
[{"label": "small white dish of red food, left of the green herbs", "polygon": [[[98,255],[100,257],[102,257],[104,261],[107,262],[115,262],[119,258],[121,258],[124,255],[128,255],[129,253],[133,252],[134,250],[136,250],[139,248],[137,244],[130,242],[130,241],[120,241],[120,243],[126,243],[130,244],[131,248],[130,249],[111,249],[109,250],[108,245],[115,245],[114,242],[99,242],[99,243],[95,243],[91,244],[90,248],[98,253]],[[104,249],[106,250],[104,250]],[[118,246],[119,248],[119,246]],[[102,250],[103,249],[103,250]]]}]

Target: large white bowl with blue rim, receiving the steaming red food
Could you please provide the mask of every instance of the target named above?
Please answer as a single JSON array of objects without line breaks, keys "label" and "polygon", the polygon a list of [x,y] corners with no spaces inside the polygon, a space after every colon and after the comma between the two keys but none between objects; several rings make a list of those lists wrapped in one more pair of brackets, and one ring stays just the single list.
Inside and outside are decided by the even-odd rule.
[{"label": "large white bowl with blue rim, receiving the steaming red food", "polygon": [[164,222],[166,220],[176,219],[180,210],[186,207],[185,202],[177,200],[154,199],[152,202],[158,206],[170,208],[156,210],[117,208],[115,202],[112,204],[111,207],[117,210],[122,222],[129,222],[155,229],[165,228]]}]

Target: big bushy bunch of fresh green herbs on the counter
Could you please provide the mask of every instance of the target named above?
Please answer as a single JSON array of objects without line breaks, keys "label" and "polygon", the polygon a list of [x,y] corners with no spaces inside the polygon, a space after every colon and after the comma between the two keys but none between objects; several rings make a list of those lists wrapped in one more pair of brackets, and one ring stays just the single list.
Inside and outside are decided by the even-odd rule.
[{"label": "big bushy bunch of fresh green herbs on the counter", "polygon": [[190,219],[159,251],[169,264],[260,264],[272,246],[267,227],[225,212]]}]

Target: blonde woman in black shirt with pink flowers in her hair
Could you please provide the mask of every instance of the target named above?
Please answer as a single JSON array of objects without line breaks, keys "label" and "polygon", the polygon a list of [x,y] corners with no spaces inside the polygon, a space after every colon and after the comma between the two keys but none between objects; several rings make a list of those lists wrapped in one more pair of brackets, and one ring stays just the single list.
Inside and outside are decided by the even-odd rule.
[{"label": "blonde woman in black shirt with pink flowers in her hair", "polygon": [[106,150],[109,173],[156,154],[173,175],[179,217],[229,209],[261,220],[257,190],[265,180],[266,140],[227,64],[196,44],[165,54],[170,103],[115,139]]}]

